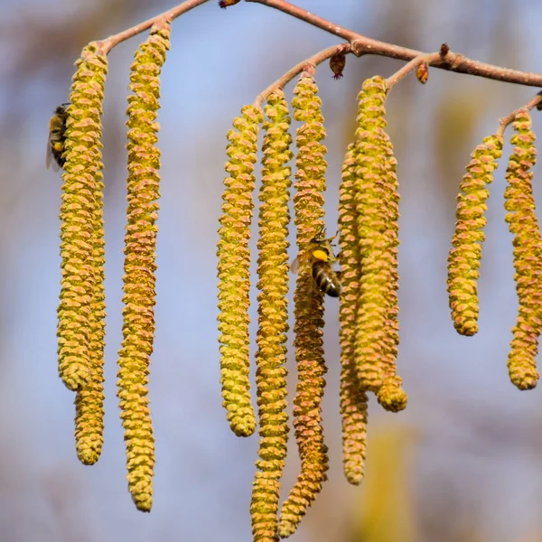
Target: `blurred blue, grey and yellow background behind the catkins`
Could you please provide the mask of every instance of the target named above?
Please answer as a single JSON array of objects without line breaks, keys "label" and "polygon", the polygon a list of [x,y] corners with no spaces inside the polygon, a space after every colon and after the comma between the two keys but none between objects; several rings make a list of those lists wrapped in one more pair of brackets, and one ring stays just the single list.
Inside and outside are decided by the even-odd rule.
[{"label": "blurred blue, grey and yellow background behind the catkins", "polygon": [[[162,77],[162,200],[157,332],[150,397],[156,436],[154,508],[135,510],[126,487],[117,409],[125,110],[129,66],[145,36],[109,55],[104,116],[107,230],[106,435],[100,461],[81,465],[73,395],[57,376],[61,177],[45,170],[48,121],[69,97],[73,62],[102,39],[173,6],[165,0],[2,0],[0,14],[0,539],[3,542],[222,542],[251,540],[248,506],[257,436],[238,439],[221,406],[216,259],[225,135],[240,107],[296,62],[338,42],[261,5],[220,10],[214,0],[173,24]],[[453,51],[542,71],[537,0],[297,0],[360,33],[408,47]],[[364,79],[388,59],[349,57],[345,77],[317,80],[329,149],[328,228],[337,220],[341,160]],[[291,97],[293,84],[286,94]],[[509,145],[491,188],[481,265],[481,331],[453,330],[446,257],[455,195],[475,145],[536,89],[431,70],[388,98],[399,162],[399,373],[409,403],[369,411],[367,476],[341,468],[338,304],[327,301],[329,362],[323,402],[330,481],[295,542],[540,542],[542,398],[519,392],[506,367],[517,311],[511,237],[502,206]],[[542,120],[535,113],[535,130]],[[535,195],[542,193],[535,172]],[[294,257],[294,251],[292,252]],[[254,312],[253,312],[254,314]],[[256,318],[253,318],[256,320]],[[295,368],[288,361],[290,388]],[[284,495],[299,463],[290,438]]]}]

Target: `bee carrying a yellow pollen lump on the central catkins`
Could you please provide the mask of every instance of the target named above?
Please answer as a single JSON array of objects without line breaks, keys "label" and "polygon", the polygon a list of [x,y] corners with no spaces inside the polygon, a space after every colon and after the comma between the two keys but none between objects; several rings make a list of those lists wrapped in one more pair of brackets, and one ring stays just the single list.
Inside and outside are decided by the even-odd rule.
[{"label": "bee carrying a yellow pollen lump on the central catkins", "polygon": [[332,264],[337,261],[332,251],[332,240],[336,237],[325,238],[325,230],[322,228],[320,233],[311,239],[304,255],[296,257],[291,266],[292,272],[297,273],[301,259],[306,261],[311,266],[314,285],[331,297],[339,297],[341,294],[341,271],[332,269]]}]

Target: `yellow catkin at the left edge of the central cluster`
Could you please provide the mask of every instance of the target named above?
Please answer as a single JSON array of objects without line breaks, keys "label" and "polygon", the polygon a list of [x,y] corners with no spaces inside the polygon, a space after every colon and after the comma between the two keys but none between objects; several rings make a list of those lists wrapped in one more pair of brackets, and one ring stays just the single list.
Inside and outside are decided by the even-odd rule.
[{"label": "yellow catkin at the left edge of the central cluster", "polygon": [[260,108],[245,106],[228,133],[222,214],[220,216],[219,331],[220,383],[223,405],[231,430],[238,436],[252,435],[256,415],[250,400],[248,307],[250,305],[250,224],[256,177],[257,135],[263,121]]}]

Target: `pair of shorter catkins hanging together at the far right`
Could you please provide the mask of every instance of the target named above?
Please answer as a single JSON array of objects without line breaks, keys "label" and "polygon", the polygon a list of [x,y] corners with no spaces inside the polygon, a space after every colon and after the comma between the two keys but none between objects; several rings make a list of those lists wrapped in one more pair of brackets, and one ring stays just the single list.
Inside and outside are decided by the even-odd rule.
[{"label": "pair of shorter catkins hanging together at the far right", "polygon": [[[536,162],[535,135],[527,109],[520,109],[513,123],[514,145],[506,172],[504,192],[506,221],[514,235],[513,255],[519,311],[509,350],[509,378],[519,389],[535,388],[538,380],[538,337],[542,331],[542,237],[535,215],[531,186]],[[455,231],[448,257],[448,293],[453,325],[462,335],[478,332],[478,287],[484,216],[504,143],[502,126],[474,149],[457,197]]]}]

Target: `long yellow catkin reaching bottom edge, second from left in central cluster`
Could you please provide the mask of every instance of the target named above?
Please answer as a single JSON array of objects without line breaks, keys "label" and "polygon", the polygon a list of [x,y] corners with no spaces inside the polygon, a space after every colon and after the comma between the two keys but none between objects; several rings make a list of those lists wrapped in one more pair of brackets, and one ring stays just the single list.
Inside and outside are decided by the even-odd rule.
[{"label": "long yellow catkin reaching bottom edge, second from left in central cluster", "polygon": [[277,91],[266,104],[259,193],[259,257],[257,288],[257,405],[259,449],[250,514],[255,542],[276,542],[277,512],[286,442],[286,333],[288,313],[288,200],[292,158],[290,117],[284,93]]}]

